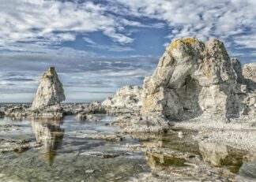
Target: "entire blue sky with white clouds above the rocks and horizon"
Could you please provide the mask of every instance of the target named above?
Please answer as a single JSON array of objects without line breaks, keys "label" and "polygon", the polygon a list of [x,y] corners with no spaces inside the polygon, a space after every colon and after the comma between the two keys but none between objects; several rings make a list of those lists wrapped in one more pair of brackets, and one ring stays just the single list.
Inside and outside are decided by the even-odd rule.
[{"label": "entire blue sky with white clouds above the rocks and horizon", "polygon": [[0,0],[0,102],[32,102],[55,66],[66,102],[141,85],[172,39],[213,37],[256,62],[255,0]]}]

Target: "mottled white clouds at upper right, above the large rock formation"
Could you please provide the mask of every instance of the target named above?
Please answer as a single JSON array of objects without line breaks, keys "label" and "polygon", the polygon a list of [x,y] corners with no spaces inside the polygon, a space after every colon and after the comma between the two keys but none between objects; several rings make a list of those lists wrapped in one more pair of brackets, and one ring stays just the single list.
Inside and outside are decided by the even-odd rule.
[{"label": "mottled white clouds at upper right, above the large rock formation", "polygon": [[[164,20],[171,28],[168,38],[197,36],[234,41],[239,46],[255,48],[250,35],[256,33],[256,1],[254,0],[118,0],[130,16]],[[241,34],[245,37],[241,37]]]}]

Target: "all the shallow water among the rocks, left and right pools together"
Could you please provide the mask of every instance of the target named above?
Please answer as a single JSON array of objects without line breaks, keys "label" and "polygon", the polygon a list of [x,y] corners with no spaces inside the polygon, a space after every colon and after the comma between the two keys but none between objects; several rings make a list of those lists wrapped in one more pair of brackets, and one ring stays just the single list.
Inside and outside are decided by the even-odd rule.
[{"label": "all the shallow water among the rocks, left and right pools together", "polygon": [[[180,153],[201,156],[201,161],[230,170],[250,180],[256,176],[256,155],[216,143],[198,143],[193,140],[197,132],[181,130],[182,136],[168,134],[156,139],[125,138],[120,142],[107,142],[79,136],[87,134],[111,134],[119,127],[107,123],[115,117],[98,115],[100,121],[76,121],[75,116],[62,121],[21,120],[5,118],[0,127],[0,139],[29,139],[42,143],[43,147],[22,153],[0,154],[0,181],[126,181],[138,173],[149,172],[156,166],[185,168],[185,158],[172,158],[164,154],[145,154],[130,150],[126,143],[141,143],[147,147],[162,147]],[[100,158],[90,154],[119,154],[115,158]],[[256,181],[256,180],[255,180]]]}]

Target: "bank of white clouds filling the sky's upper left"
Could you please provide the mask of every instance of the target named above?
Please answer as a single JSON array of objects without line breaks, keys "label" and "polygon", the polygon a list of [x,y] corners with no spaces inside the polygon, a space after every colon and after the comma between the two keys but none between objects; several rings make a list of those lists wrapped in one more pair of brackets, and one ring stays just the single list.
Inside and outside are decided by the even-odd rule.
[{"label": "bank of white clouds filling the sky's upper left", "polygon": [[[133,39],[119,32],[127,24],[107,15],[107,7],[92,2],[60,2],[44,0],[2,0],[0,4],[1,44],[17,41],[58,43],[75,39],[70,32],[103,31],[119,43]],[[140,23],[133,22],[133,26]],[[43,40],[42,40],[43,37]]]}]

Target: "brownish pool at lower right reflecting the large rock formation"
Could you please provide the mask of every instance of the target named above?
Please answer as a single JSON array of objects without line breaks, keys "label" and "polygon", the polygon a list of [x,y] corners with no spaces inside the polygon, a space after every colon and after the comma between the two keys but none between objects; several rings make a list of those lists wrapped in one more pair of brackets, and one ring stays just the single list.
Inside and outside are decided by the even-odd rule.
[{"label": "brownish pool at lower right reflecting the large rock formation", "polygon": [[[200,165],[210,163],[210,169],[228,169],[231,175],[238,174],[238,181],[256,179],[256,154],[246,150],[237,150],[220,143],[200,142],[193,139],[194,131],[159,136],[156,139],[140,139],[144,147],[153,150],[145,152],[151,169],[167,167],[169,169],[186,169],[187,163]],[[182,136],[182,137],[181,137]],[[197,163],[193,156],[201,161]],[[191,157],[191,158],[190,158]],[[193,158],[192,158],[193,157]],[[195,163],[194,163],[195,162]],[[193,166],[193,165],[191,165]],[[192,169],[190,169],[192,170]],[[217,173],[217,170],[216,170]]]}]

